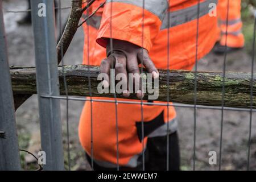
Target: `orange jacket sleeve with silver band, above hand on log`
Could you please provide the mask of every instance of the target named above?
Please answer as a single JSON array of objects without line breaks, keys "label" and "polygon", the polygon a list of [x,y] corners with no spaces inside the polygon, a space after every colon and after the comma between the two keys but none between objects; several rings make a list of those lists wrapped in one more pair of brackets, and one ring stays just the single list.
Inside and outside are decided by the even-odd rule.
[{"label": "orange jacket sleeve with silver band, above hand on log", "polygon": [[150,51],[168,6],[167,0],[107,0],[96,42],[126,40]]}]

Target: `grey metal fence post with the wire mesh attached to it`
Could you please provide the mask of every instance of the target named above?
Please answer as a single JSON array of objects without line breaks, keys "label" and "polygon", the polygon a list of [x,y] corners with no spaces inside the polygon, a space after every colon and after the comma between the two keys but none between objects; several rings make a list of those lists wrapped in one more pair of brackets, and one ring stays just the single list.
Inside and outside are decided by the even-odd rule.
[{"label": "grey metal fence post with the wire mesh attached to it", "polygon": [[42,150],[46,152],[44,170],[63,170],[60,101],[42,98],[59,96],[55,17],[53,0],[31,0],[32,24],[35,40],[36,84]]}]

